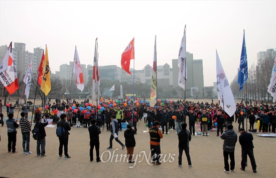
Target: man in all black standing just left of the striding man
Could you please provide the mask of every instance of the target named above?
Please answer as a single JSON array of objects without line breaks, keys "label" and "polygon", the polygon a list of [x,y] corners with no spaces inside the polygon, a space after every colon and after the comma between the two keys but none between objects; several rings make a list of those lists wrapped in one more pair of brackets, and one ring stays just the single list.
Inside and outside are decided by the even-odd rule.
[{"label": "man in all black standing just left of the striding man", "polygon": [[96,126],[96,120],[91,120],[91,125],[88,127],[89,135],[90,135],[90,161],[93,161],[93,149],[95,146],[96,149],[96,159],[97,162],[100,160],[100,138],[99,134],[101,133],[100,127]]}]

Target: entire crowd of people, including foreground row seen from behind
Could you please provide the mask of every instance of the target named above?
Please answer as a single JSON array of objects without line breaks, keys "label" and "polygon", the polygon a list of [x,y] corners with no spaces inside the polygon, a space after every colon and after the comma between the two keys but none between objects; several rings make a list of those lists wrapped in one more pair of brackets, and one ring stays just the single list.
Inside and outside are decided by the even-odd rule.
[{"label": "entire crowd of people, including foreground row seen from behind", "polygon": [[[208,102],[192,102],[182,100],[157,100],[154,106],[151,106],[150,102],[144,100],[108,100],[101,98],[98,105],[89,103],[89,99],[85,99],[82,102],[78,102],[75,99],[67,99],[62,101],[56,99],[56,103],[51,104],[48,100],[45,103],[45,108],[36,108],[34,120],[36,120],[35,127],[39,128],[41,132],[40,139],[37,140],[37,155],[45,156],[45,137],[46,132],[44,127],[48,124],[47,118],[53,118],[53,121],[58,125],[62,125],[65,128],[65,134],[59,137],[59,157],[62,157],[62,148],[64,147],[65,158],[70,158],[68,154],[68,137],[71,126],[76,127],[83,126],[88,128],[90,135],[90,161],[93,161],[93,148],[96,149],[96,160],[99,158],[99,134],[100,128],[110,131],[109,147],[112,149],[112,140],[115,140],[122,146],[122,149],[126,146],[127,154],[129,155],[128,161],[134,162],[132,154],[135,146],[134,134],[137,134],[137,122],[142,121],[149,128],[150,144],[152,153],[152,163],[160,165],[160,139],[163,134],[168,134],[168,129],[176,130],[179,138],[179,167],[182,167],[182,153],[183,150],[186,153],[188,159],[188,165],[191,168],[191,157],[189,155],[189,141],[193,136],[198,135],[196,133],[195,123],[200,125],[202,136],[208,136],[208,131],[213,131],[213,128],[217,129],[217,136],[224,139],[223,155],[225,162],[225,172],[229,173],[228,155],[230,156],[230,170],[234,169],[234,147],[237,141],[237,135],[233,129],[233,122],[238,121],[238,131],[243,133],[244,120],[249,119],[249,130],[255,131],[254,123],[259,120],[258,130],[263,133],[275,133],[275,108],[276,105],[247,105],[245,103],[236,104],[236,112],[234,115],[229,116],[220,106],[219,103]],[[13,119],[13,112],[16,105],[7,104],[7,120],[8,126],[8,151],[17,152],[15,148],[16,142],[16,128],[21,125],[21,131],[23,135],[23,150],[25,154],[31,154],[29,150],[30,131],[31,126],[28,122],[28,109],[29,106],[24,104],[21,112],[20,124],[17,120]],[[8,111],[9,110],[9,111]],[[2,112],[1,112],[2,113]],[[26,116],[27,115],[27,116]],[[2,114],[3,120],[3,114]],[[44,123],[42,123],[42,119]],[[67,121],[66,121],[67,120]],[[119,131],[122,131],[122,123],[126,123],[126,130],[124,131],[125,144],[118,139]],[[2,126],[3,126],[2,122]],[[106,125],[106,128],[104,126]],[[187,129],[189,125],[189,131]],[[162,129],[160,129],[162,128]],[[239,142],[242,145],[242,163],[241,169],[244,170],[247,154],[252,159],[252,169],[256,172],[256,164],[253,157],[253,143],[250,135],[241,134],[239,136]],[[245,136],[246,135],[246,136]],[[1,138],[1,137],[0,137]],[[230,140],[229,140],[230,139]],[[250,141],[248,141],[250,139]],[[242,140],[242,141],[241,141]],[[245,140],[245,141],[244,141]],[[252,144],[251,146],[244,145],[244,142]],[[25,147],[26,143],[26,147]],[[244,148],[245,147],[245,148]],[[155,156],[157,155],[157,156]]]}]

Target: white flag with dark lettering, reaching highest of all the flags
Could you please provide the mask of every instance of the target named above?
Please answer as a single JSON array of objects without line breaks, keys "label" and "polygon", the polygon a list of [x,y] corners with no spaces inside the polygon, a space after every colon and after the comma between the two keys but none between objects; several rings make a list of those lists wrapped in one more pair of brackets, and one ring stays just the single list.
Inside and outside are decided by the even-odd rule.
[{"label": "white flag with dark lettering, reaching highest of all the flags", "polygon": [[187,79],[187,63],[186,63],[186,25],[184,28],[184,35],[181,40],[179,54],[178,54],[178,85],[185,89]]}]

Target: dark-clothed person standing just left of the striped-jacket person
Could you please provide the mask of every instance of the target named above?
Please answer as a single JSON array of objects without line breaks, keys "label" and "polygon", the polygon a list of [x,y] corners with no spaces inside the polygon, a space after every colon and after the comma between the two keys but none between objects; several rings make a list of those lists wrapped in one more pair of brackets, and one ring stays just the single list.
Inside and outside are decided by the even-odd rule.
[{"label": "dark-clothed person standing just left of the striped-jacket person", "polygon": [[9,113],[8,117],[9,117],[9,119],[6,121],[6,124],[8,127],[8,151],[17,153],[17,150],[16,150],[17,130],[16,130],[16,128],[19,127],[19,124],[18,124],[18,121],[14,119],[13,113]]}]

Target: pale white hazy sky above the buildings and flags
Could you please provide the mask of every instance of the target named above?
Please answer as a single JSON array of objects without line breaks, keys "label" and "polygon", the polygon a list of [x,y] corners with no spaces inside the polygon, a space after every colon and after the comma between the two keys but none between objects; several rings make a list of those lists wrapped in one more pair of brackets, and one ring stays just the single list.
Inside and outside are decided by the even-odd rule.
[{"label": "pale white hazy sky above the buildings and flags", "polygon": [[249,66],[256,64],[257,52],[276,47],[275,6],[275,0],[0,0],[0,45],[23,42],[34,52],[47,44],[55,72],[73,61],[75,45],[81,63],[93,64],[96,37],[99,65],[120,66],[121,53],[134,36],[135,69],[142,69],[153,63],[157,35],[157,64],[172,66],[186,24],[186,49],[203,59],[204,85],[211,86],[215,49],[228,80],[237,73],[243,28]]}]

